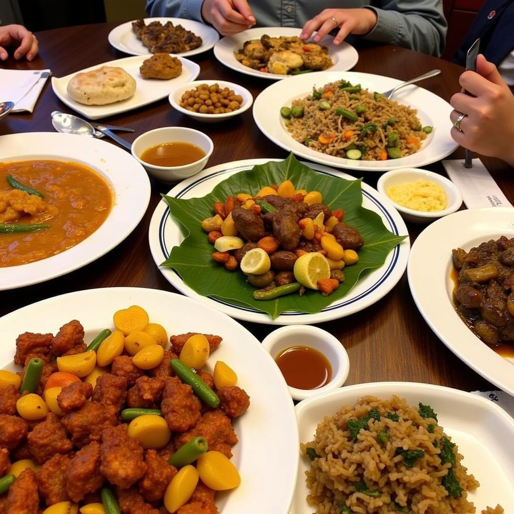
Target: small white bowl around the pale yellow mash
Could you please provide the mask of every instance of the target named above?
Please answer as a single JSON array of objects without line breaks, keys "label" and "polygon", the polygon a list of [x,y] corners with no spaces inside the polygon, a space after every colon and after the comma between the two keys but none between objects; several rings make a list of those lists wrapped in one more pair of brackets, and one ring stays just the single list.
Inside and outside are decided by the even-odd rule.
[{"label": "small white bowl around the pale yellow mash", "polygon": [[[442,211],[416,211],[397,204],[387,195],[386,191],[390,187],[398,186],[405,182],[412,182],[418,178],[430,180],[443,187],[446,195],[446,209],[443,209]],[[462,205],[461,192],[451,180],[448,180],[446,177],[443,177],[438,173],[421,170],[420,168],[402,168],[399,170],[388,171],[378,179],[377,189],[379,193],[383,194],[391,201],[401,214],[401,217],[405,219],[405,221],[411,223],[431,223],[437,218],[455,212]]]}]

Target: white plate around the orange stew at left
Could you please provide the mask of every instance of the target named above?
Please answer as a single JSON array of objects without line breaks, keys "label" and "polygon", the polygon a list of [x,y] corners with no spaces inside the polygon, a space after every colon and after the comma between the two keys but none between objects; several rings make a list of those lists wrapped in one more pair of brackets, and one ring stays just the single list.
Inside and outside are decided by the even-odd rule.
[{"label": "white plate around the orange stew at left", "polygon": [[0,268],[0,290],[37,284],[82,268],[113,249],[141,221],[150,201],[150,180],[125,150],[86,136],[31,132],[0,137],[0,161],[76,161],[103,175],[112,187],[113,207],[105,222],[78,245],[41,261]]}]

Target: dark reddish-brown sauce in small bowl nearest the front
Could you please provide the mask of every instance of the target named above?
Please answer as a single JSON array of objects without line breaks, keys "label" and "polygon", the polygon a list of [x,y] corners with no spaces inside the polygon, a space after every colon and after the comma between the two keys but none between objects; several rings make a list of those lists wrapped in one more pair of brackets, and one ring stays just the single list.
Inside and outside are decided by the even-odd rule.
[{"label": "dark reddish-brown sauce in small bowl nearest the front", "polygon": [[318,389],[332,379],[332,366],[315,348],[291,346],[275,358],[289,387]]}]

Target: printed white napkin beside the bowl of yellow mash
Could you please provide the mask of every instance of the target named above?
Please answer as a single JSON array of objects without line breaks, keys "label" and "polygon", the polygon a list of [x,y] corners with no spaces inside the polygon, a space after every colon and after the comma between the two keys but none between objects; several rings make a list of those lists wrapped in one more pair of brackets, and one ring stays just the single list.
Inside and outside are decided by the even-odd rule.
[{"label": "printed white napkin beside the bowl of yellow mash", "polygon": [[443,161],[446,173],[461,191],[468,209],[512,207],[480,159],[473,159],[472,168],[464,168],[463,164],[464,161],[458,159]]}]

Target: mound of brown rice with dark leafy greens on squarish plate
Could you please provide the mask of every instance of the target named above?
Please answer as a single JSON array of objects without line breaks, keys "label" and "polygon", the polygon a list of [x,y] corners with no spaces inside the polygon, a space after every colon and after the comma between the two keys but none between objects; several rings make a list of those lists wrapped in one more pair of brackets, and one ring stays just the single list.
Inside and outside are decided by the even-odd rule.
[{"label": "mound of brown rice with dark leafy greens on squarish plate", "polygon": [[[467,493],[480,484],[428,405],[365,396],[325,417],[301,452],[316,514],[475,512]],[[482,514],[502,512],[498,505]]]}]

